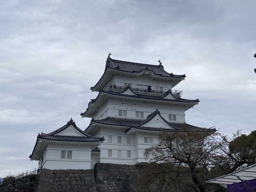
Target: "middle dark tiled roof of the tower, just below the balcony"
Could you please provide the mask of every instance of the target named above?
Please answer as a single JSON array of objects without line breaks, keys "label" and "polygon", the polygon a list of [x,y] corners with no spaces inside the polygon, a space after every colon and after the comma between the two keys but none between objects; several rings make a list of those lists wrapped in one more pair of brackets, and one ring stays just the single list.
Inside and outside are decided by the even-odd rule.
[{"label": "middle dark tiled roof of the tower, just below the balcony", "polygon": [[[123,92],[125,92],[128,88],[126,88]],[[132,91],[132,90],[131,90]],[[195,103],[195,102],[199,102],[200,100],[199,99],[195,99],[195,100],[189,100],[189,99],[182,99],[182,98],[176,98],[176,99],[163,99],[163,97],[165,97],[166,95],[168,95],[171,91],[168,90],[164,96],[162,95],[145,95],[145,94],[138,94],[138,93],[133,93],[136,94],[136,95],[125,95],[125,94],[121,94],[123,92],[113,92],[113,91],[100,91],[98,96],[96,97],[96,99],[91,99],[91,101],[88,103],[88,107],[87,109],[85,109],[85,112],[84,113],[81,113],[80,115],[84,115],[88,108],[89,108],[89,105],[91,103],[94,103],[98,97],[100,96],[100,93],[108,93],[108,94],[111,94],[111,95],[118,95],[118,96],[125,96],[125,97],[132,97],[132,98],[141,98],[141,99],[151,99],[151,100],[163,100],[163,101],[173,101],[173,102],[182,102],[182,103]],[[171,92],[172,94],[172,92]],[[173,96],[174,97],[174,96]]]}]

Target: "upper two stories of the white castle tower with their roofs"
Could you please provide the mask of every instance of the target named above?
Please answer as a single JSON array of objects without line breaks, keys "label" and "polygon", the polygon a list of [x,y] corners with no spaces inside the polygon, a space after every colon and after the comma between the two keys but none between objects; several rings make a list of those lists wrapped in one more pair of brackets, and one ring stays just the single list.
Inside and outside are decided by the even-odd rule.
[{"label": "upper two stories of the white castle tower with their roofs", "polygon": [[184,80],[159,65],[114,60],[108,55],[105,71],[92,91],[99,92],[91,99],[82,117],[145,119],[156,108],[169,122],[185,122],[185,111],[199,100],[182,99],[182,91],[172,88]]}]

